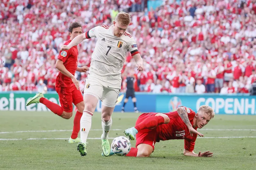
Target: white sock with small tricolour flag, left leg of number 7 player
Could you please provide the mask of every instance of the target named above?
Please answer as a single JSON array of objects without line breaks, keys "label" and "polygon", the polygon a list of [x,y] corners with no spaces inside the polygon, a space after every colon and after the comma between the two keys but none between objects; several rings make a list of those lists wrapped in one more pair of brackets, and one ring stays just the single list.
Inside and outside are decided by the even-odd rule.
[{"label": "white sock with small tricolour flag, left leg of number 7 player", "polygon": [[83,115],[80,119],[80,138],[81,142],[86,143],[88,133],[91,129],[91,117],[93,113],[87,110],[83,111]]}]

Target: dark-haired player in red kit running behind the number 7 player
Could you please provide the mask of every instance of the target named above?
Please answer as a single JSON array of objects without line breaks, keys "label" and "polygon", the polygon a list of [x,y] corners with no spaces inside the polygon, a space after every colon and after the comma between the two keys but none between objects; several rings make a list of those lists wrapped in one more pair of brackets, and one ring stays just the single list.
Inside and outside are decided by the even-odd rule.
[{"label": "dark-haired player in red kit running behind the number 7 player", "polygon": [[[74,22],[69,27],[70,40],[65,42],[68,45],[72,39],[77,35],[82,34],[82,26],[80,23]],[[84,102],[83,95],[79,90],[79,82],[75,78],[75,72],[86,72],[89,67],[77,67],[78,62],[78,50],[77,46],[70,48],[69,50],[60,51],[58,60],[55,67],[60,71],[56,79],[56,91],[59,95],[60,104],[55,104],[46,98],[42,93],[36,94],[31,100],[28,101],[27,106],[33,103],[43,103],[54,114],[61,116],[64,119],[69,119],[72,116],[73,104],[77,108],[77,112],[74,118],[74,126],[72,135],[69,139],[69,143],[78,143],[78,133],[80,131],[80,119],[83,115]]]}]

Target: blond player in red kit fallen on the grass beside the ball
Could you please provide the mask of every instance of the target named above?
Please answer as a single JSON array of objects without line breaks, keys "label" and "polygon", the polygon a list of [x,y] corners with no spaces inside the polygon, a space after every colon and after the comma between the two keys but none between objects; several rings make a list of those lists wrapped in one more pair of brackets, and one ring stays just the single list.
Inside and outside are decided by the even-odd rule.
[{"label": "blond player in red kit fallen on the grass beside the ball", "polygon": [[[156,142],[184,139],[183,154],[185,156],[211,157],[213,153],[210,151],[196,154],[193,150],[197,135],[203,136],[197,128],[204,127],[213,117],[213,109],[206,105],[202,105],[197,113],[183,106],[175,112],[165,114],[143,113],[137,119],[135,127],[124,131],[131,140],[134,140],[136,136],[136,146],[132,147],[126,156],[149,157],[154,151]],[[111,151],[110,155],[113,154]]]}]

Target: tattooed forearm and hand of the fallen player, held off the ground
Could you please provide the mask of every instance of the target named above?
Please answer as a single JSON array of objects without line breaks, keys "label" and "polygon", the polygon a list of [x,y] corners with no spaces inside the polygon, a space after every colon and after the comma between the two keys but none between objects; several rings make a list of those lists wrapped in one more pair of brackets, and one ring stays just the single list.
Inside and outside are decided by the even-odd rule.
[{"label": "tattooed forearm and hand of the fallen player, held off the ground", "polygon": [[190,123],[190,121],[188,119],[188,115],[187,115],[188,112],[187,112],[185,107],[180,106],[179,108],[177,108],[177,112],[180,115],[180,118],[183,120],[183,122],[187,125],[187,128],[189,129],[189,132],[190,132],[191,136],[193,136],[193,133],[196,133],[196,134],[198,134],[201,137],[204,136],[202,133],[199,133],[197,130],[195,130],[192,127],[192,125],[191,125],[191,123]]}]

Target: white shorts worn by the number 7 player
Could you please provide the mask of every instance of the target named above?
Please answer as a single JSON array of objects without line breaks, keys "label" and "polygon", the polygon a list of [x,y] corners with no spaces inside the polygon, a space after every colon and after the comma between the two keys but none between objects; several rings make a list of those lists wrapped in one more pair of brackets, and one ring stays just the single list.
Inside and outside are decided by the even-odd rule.
[{"label": "white shorts worn by the number 7 player", "polygon": [[104,80],[89,74],[86,78],[83,94],[91,94],[101,100],[102,105],[113,108],[117,103],[121,82],[121,77],[117,80]]}]

